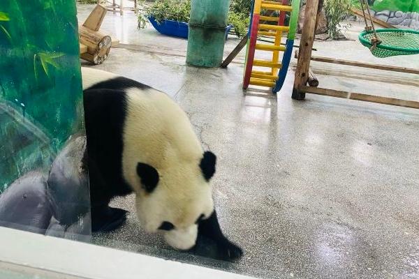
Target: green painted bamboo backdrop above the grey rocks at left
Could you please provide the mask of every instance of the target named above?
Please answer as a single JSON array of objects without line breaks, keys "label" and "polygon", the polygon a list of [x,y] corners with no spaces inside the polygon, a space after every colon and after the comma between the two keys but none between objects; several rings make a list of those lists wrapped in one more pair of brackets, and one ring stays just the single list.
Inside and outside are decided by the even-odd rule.
[{"label": "green painted bamboo backdrop above the grey rocks at left", "polygon": [[74,0],[0,1],[0,193],[82,128]]}]

